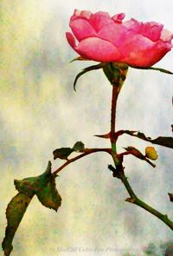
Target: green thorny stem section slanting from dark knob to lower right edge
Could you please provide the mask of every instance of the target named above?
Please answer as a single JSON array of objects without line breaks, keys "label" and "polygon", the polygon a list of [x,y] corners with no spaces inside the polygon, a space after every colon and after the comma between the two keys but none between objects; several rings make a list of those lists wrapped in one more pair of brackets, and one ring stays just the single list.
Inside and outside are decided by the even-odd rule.
[{"label": "green thorny stem section slanting from dark knob to lower right edge", "polygon": [[151,213],[152,215],[156,216],[159,220],[162,220],[167,226],[170,226],[170,229],[173,230],[173,221],[171,221],[166,214],[158,212],[153,207],[147,205],[144,203],[143,200],[138,199],[137,195],[134,193],[134,191],[131,188],[131,185],[127,181],[127,178],[125,177],[125,174],[122,172],[120,175],[120,179],[125,185],[126,190],[130,194],[131,198],[126,199],[126,201],[131,202],[138,207],[144,208],[147,212]]}]

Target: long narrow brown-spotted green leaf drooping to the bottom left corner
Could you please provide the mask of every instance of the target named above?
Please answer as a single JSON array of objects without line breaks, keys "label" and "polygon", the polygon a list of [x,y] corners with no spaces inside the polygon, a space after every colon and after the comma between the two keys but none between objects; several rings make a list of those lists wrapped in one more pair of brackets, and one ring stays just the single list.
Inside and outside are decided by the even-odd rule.
[{"label": "long narrow brown-spotted green leaf drooping to the bottom left corner", "polygon": [[31,200],[32,197],[22,193],[16,194],[16,196],[10,200],[10,203],[6,209],[7,227],[2,243],[5,256],[9,256],[13,249],[12,241],[15,236],[17,227],[19,226]]}]

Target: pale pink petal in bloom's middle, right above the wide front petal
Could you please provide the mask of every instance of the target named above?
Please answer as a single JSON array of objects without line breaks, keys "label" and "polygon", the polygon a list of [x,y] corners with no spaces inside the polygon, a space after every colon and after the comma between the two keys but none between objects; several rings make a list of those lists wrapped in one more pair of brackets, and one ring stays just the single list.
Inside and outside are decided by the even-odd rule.
[{"label": "pale pink petal in bloom's middle, right above the wide front petal", "polygon": [[127,29],[123,24],[112,23],[99,30],[99,38],[105,39],[115,46],[119,46],[128,36]]}]

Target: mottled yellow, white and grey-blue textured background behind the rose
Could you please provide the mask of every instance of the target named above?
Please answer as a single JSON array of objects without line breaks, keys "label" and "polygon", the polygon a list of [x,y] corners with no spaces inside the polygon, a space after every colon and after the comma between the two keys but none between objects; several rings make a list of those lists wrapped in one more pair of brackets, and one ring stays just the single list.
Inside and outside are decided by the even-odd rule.
[{"label": "mottled yellow, white and grey-blue textured background behind the rose", "polygon": [[[68,63],[76,56],[65,38],[74,8],[111,15],[125,12],[127,19],[157,21],[173,31],[172,0],[0,1],[1,240],[5,208],[16,194],[15,178],[41,174],[53,160],[54,148],[79,140],[86,147],[108,146],[93,135],[109,130],[109,82],[99,70],[80,78],[77,93],[72,88],[74,76],[92,63]],[[156,66],[173,70],[172,60],[170,52]],[[140,130],[153,138],[171,135],[172,84],[171,75],[131,69],[119,96],[118,128]],[[149,144],[127,135],[119,140],[119,149],[131,145],[144,152]],[[127,157],[125,171],[139,197],[173,219],[167,195],[172,191],[172,151],[156,148],[155,169]],[[35,198],[11,255],[142,255],[149,243],[158,246],[170,240],[172,232],[160,220],[125,202],[125,188],[112,179],[109,163],[109,156],[98,153],[67,167],[57,179],[63,200],[58,213]],[[53,168],[59,164],[54,161]]]}]

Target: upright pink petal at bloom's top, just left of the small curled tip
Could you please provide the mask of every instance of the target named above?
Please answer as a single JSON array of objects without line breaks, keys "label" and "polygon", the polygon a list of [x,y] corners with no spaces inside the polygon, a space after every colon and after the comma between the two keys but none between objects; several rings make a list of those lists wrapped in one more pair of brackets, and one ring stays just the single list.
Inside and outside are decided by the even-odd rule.
[{"label": "upright pink petal at bloom's top, just left of the small curled tip", "polygon": [[96,32],[101,30],[104,26],[108,25],[109,23],[113,23],[112,18],[109,16],[107,12],[104,11],[99,11],[92,14],[90,16],[89,22]]}]

